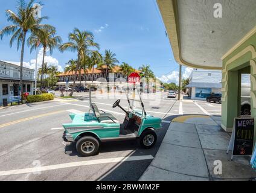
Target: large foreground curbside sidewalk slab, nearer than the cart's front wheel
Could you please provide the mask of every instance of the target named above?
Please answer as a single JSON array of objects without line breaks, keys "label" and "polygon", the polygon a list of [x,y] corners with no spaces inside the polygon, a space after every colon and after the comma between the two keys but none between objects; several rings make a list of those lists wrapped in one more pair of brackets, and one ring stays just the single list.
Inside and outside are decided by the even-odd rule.
[{"label": "large foreground curbside sidewalk slab, nearer than the cart's front wheel", "polygon": [[161,144],[152,166],[191,176],[208,177],[202,149]]}]

